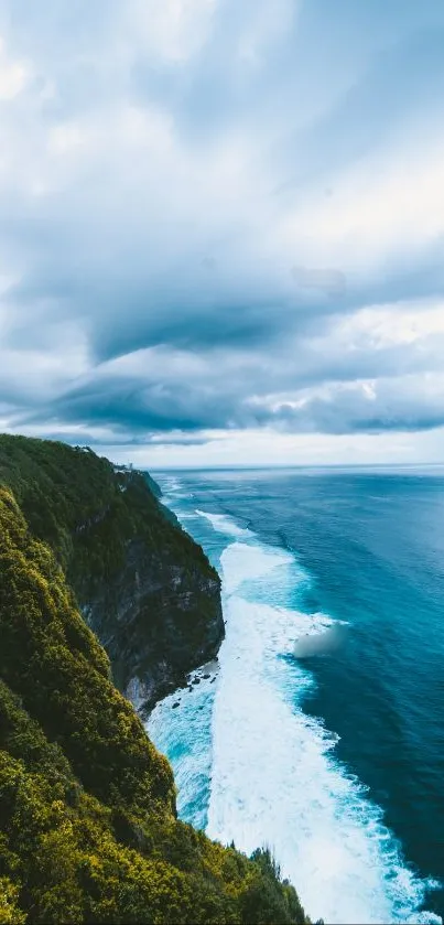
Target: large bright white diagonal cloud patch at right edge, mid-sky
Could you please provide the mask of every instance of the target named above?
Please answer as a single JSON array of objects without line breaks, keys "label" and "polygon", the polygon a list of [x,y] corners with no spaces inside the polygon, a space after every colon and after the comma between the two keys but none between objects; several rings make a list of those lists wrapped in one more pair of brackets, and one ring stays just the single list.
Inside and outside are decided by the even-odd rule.
[{"label": "large bright white diagonal cloud patch at right edge, mid-sky", "polygon": [[[302,191],[282,217],[279,247],[299,263],[334,267],[354,282],[407,261],[444,235],[444,136],[422,126]],[[412,143],[413,142],[413,143]],[[402,152],[402,154],[400,153]],[[325,195],[325,187],[333,193]]]}]

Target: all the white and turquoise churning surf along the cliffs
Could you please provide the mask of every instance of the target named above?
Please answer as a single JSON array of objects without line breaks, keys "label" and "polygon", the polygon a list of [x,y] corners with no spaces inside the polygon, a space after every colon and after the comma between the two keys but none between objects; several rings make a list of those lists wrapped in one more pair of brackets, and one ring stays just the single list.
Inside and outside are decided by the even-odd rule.
[{"label": "all the white and turquoise churning surf along the cliffs", "polygon": [[[175,482],[177,483],[177,478],[175,478]],[[192,534],[193,528],[197,530],[198,541],[203,541],[203,533],[214,542],[220,540],[223,610],[224,617],[227,621],[227,637],[219,653],[218,682],[213,685],[215,690],[212,691],[210,704],[199,702],[196,711],[197,716],[195,716],[193,711],[189,712],[189,701],[184,699],[187,697],[184,692],[181,702],[174,709],[172,709],[174,695],[171,696],[169,704],[161,703],[156,707],[159,725],[163,724],[162,734],[164,736],[163,742],[158,741],[156,744],[161,750],[166,751],[175,770],[180,786],[180,815],[182,814],[182,818],[186,821],[192,821],[194,825],[197,822],[202,828],[205,828],[212,838],[223,842],[229,842],[234,839],[237,847],[247,853],[251,845],[266,841],[271,845],[281,864],[283,875],[289,876],[292,882],[295,879],[300,881],[303,902],[313,919],[322,916],[325,921],[331,922],[405,922],[405,912],[402,912],[402,908],[405,910],[410,905],[410,921],[441,921],[433,913],[418,912],[418,908],[422,905],[422,894],[425,894],[425,889],[431,889],[433,883],[422,883],[415,878],[415,874],[400,854],[394,838],[383,826],[381,809],[368,799],[366,788],[353,775],[349,775],[346,768],[335,759],[337,738],[329,734],[322,724],[320,725],[316,720],[311,719],[303,711],[304,691],[308,691],[312,687],[313,679],[310,677],[310,671],[307,673],[301,665],[295,665],[294,659],[291,658],[290,644],[294,642],[294,638],[291,638],[289,634],[293,633],[294,636],[295,617],[297,619],[299,633],[322,631],[323,627],[332,625],[332,620],[326,614],[318,614],[317,624],[314,626],[313,614],[285,610],[284,603],[285,596],[288,596],[289,582],[291,584],[295,580],[295,572],[289,574],[289,568],[290,570],[295,568],[299,578],[305,582],[310,580],[310,577],[296,567],[293,550],[284,550],[278,545],[266,547],[251,529],[238,526],[231,517],[221,513],[205,513],[202,509],[202,501],[197,504],[196,510],[194,499],[193,503],[189,502],[188,498],[186,504],[184,493],[181,493],[177,488],[176,496],[173,495],[170,498],[170,503],[174,504],[175,513],[180,518],[181,510],[183,512],[183,523],[186,528],[191,529]],[[191,521],[193,523],[192,527]],[[205,524],[208,525],[208,528],[205,527]],[[215,530],[215,536],[212,535],[213,530]],[[242,548],[248,551],[242,552]],[[247,556],[243,567],[241,563],[242,556]],[[277,566],[274,578],[272,570],[268,571],[268,566],[263,571],[264,564],[270,563],[270,559],[273,557]],[[243,574],[240,573],[242,568]],[[236,576],[232,569],[235,569]],[[258,580],[261,589],[259,599],[259,585],[252,593],[253,584]],[[246,581],[247,584],[245,584]],[[242,592],[239,604],[235,601],[236,610],[232,610],[235,605],[232,599],[237,598],[237,590],[240,589],[240,585],[248,587],[250,591],[247,598]],[[273,606],[264,602],[270,593],[273,596]],[[279,626],[275,628],[277,620],[280,621],[280,630]],[[234,628],[239,627],[246,621],[243,638],[239,636],[231,638]],[[271,621],[274,622],[274,636],[278,630],[279,633],[282,633],[280,639],[278,639],[278,648],[274,646],[277,639],[274,638],[274,642],[270,639],[269,627]],[[262,634],[262,638],[258,639],[255,633],[259,624],[259,636]],[[263,638],[269,639],[266,649],[263,649]],[[286,643],[284,643],[284,639],[286,639]],[[271,649],[274,646],[274,652],[271,652],[270,645]],[[258,686],[255,671],[259,663],[262,664],[261,659],[263,657],[268,665],[268,675],[266,673]],[[250,669],[255,659],[253,675],[251,675]],[[242,666],[242,675],[247,674],[248,677],[250,671],[251,682],[247,684],[243,679],[240,684],[236,664]],[[270,670],[273,678],[270,676]],[[288,684],[289,670],[292,675],[290,685]],[[286,680],[282,687],[285,673]],[[278,710],[277,696],[279,702],[290,703],[289,698],[293,702],[296,690],[299,695],[294,706],[290,712],[286,712],[288,707],[284,706],[284,712],[278,720],[278,712],[274,716],[271,714],[272,710]],[[214,693],[217,693],[216,698]],[[192,698],[192,695],[189,697]],[[251,709],[243,709],[246,702],[255,709],[255,712],[251,712]],[[272,706],[270,707],[270,704]],[[169,706],[169,716],[170,719],[173,719],[173,722],[169,734],[165,736],[165,723],[169,722],[165,712],[166,706]],[[182,714],[184,708],[185,714]],[[259,713],[259,722],[256,711]],[[162,717],[162,720],[160,720],[160,717]],[[270,717],[270,719],[263,724],[262,720],[267,717]],[[286,739],[294,745],[288,752],[282,751],[283,742],[280,736],[275,741],[273,740],[273,730],[279,729],[279,727],[286,730]],[[155,741],[156,734],[152,725],[150,727],[150,734]],[[208,741],[203,743],[202,740],[205,734]],[[193,735],[196,736],[197,744],[189,741]],[[272,744],[273,741],[274,745]],[[264,742],[267,742],[266,752]],[[270,747],[277,759],[278,768],[267,764]],[[306,752],[307,747],[308,752]],[[311,754],[312,762],[316,755],[316,764],[312,766],[307,764],[304,771],[304,766],[296,762],[292,770],[294,753],[307,756]],[[241,764],[240,760],[242,762],[245,760],[245,763]],[[257,778],[255,768],[262,768]],[[277,771],[281,773],[275,776]],[[268,781],[267,774],[270,775]],[[306,774],[305,777],[304,774]],[[196,783],[194,792],[193,775]],[[268,789],[264,790],[266,781]],[[245,782],[247,782],[247,787],[243,786]],[[297,782],[297,787],[304,790],[305,796],[303,798],[300,798],[300,795],[295,793],[294,782]],[[181,784],[184,788],[182,803]],[[283,795],[281,802],[285,807],[281,830],[273,824],[275,815],[279,816],[279,807],[275,803],[277,793]],[[204,805],[204,797],[206,798],[206,805]],[[253,809],[256,797],[259,800],[258,806],[262,802],[262,809],[260,810],[262,821],[260,821],[260,815],[259,817],[255,816],[257,811]],[[268,800],[268,808],[263,804],[263,799]],[[315,809],[316,804],[317,809]],[[237,813],[236,806],[241,807],[240,815]],[[267,818],[263,816],[266,810]],[[304,838],[305,842],[306,839],[308,841],[305,843],[305,850],[302,851],[302,854],[300,853],[300,846],[294,840],[290,847],[282,843],[281,833],[285,831],[285,827],[291,825],[292,814],[294,819],[306,819],[306,836],[301,836],[301,842],[304,841]],[[336,818],[337,814],[339,815]],[[310,818],[311,816],[313,818]],[[257,818],[257,822],[253,822],[253,818]],[[328,827],[333,826],[328,836],[328,843],[331,847],[335,846],[336,863],[339,863],[336,875],[332,881],[331,889],[333,892],[329,899],[329,888],[324,883],[323,889],[328,902],[324,902],[322,906],[317,904],[316,899],[318,888],[314,889],[313,886],[317,876],[313,881],[314,874],[313,872],[310,873],[310,868],[306,868],[311,851],[314,850],[311,828],[315,825],[316,818],[321,827],[320,830],[327,826],[327,831]],[[336,821],[333,821],[334,818],[336,818]],[[249,819],[248,830],[246,829],[247,819]],[[301,822],[299,821],[297,825],[300,826]],[[345,848],[347,839],[351,839],[351,853]],[[387,841],[387,839],[389,840]],[[318,845],[316,852],[322,852],[322,850]],[[308,861],[306,857],[303,857],[304,853],[308,854]],[[299,858],[297,863],[296,858]],[[365,858],[367,858],[366,861]],[[373,869],[375,875],[369,876],[367,872],[365,873],[365,869],[366,871]],[[348,890],[351,895],[354,884],[356,885],[356,876],[361,878],[360,899],[354,896],[353,907],[345,907],[338,892],[342,891],[343,895],[345,892],[346,895]],[[313,889],[311,889],[310,882]],[[379,896],[379,900],[375,900],[375,895]],[[402,899],[403,896],[404,899]],[[379,903],[379,912],[375,902]],[[337,903],[339,905],[336,907]],[[420,917],[418,918],[418,916]]]}]

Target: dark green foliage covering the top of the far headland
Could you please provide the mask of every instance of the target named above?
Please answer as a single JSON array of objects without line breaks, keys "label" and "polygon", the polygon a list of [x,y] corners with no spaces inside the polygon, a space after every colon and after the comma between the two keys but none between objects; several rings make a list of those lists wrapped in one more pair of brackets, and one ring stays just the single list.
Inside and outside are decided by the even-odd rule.
[{"label": "dark green foliage covering the top of the far headland", "polygon": [[134,537],[164,558],[215,574],[206,556],[159,504],[148,474],[118,469],[86,447],[0,434],[0,484],[66,570],[80,602],[124,564]]}]

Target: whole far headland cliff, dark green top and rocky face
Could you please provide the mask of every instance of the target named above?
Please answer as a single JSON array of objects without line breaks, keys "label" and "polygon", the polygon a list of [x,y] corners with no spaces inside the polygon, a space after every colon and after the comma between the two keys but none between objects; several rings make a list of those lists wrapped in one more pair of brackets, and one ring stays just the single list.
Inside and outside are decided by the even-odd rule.
[{"label": "whole far headland cliff, dark green top and rocky face", "polygon": [[148,474],[87,448],[3,434],[0,483],[52,547],[116,685],[138,706],[149,710],[216,655],[219,578]]}]

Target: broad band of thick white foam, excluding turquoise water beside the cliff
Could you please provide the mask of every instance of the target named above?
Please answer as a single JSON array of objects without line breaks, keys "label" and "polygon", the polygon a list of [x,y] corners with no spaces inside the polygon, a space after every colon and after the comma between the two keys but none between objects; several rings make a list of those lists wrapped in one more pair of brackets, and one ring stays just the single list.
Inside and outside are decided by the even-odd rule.
[{"label": "broad band of thick white foam, excluding turquoise water beside the cliff", "polygon": [[[333,621],[241,596],[245,581],[264,574],[272,588],[288,562],[284,552],[241,542],[221,557],[227,635],[213,714],[208,835],[247,852],[270,846],[313,919],[419,922],[425,884],[402,863],[365,788],[336,761],[336,738],[302,711],[313,681],[285,658],[297,638]],[[421,921],[441,919],[423,913]]]}]

